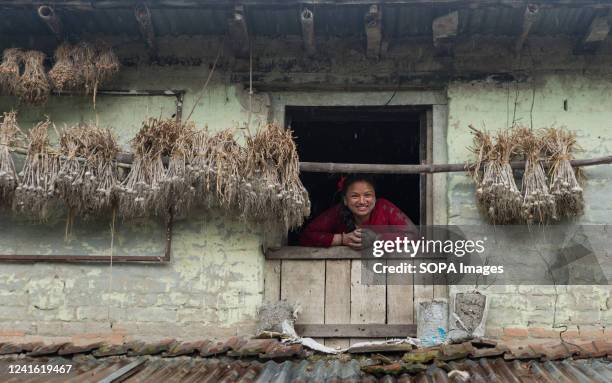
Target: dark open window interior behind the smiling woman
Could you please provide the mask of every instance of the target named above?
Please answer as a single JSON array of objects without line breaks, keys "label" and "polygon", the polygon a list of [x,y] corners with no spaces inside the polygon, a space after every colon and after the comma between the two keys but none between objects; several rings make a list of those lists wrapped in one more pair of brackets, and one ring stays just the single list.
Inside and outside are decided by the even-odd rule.
[{"label": "dark open window interior behind the smiling woman", "polygon": [[[365,164],[421,162],[420,121],[424,108],[286,107],[285,121],[296,137],[300,161]],[[310,219],[338,203],[340,174],[306,173],[301,179],[310,194]],[[376,175],[376,194],[396,204],[419,224],[420,176]],[[308,224],[310,219],[305,223]],[[289,233],[296,245],[298,232]]]}]

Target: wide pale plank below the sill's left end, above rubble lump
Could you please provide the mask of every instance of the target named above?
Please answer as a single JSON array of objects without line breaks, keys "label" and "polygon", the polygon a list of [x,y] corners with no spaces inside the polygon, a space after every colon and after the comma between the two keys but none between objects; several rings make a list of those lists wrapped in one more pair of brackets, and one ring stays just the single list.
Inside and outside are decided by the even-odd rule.
[{"label": "wide pale plank below the sill's left end, above rubble lump", "polygon": [[300,304],[296,323],[323,324],[325,261],[283,261],[281,299]]}]

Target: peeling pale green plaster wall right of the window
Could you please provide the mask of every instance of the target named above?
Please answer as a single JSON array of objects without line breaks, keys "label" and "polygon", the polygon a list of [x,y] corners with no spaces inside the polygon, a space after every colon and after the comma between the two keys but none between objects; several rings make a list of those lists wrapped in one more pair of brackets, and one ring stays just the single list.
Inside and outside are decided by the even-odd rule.
[{"label": "peeling pale green plaster wall right of the window", "polygon": [[[469,155],[466,150],[472,139],[469,124],[496,131],[513,120],[529,126],[532,118],[534,128],[554,124],[576,131],[584,148],[580,158],[612,153],[609,76],[545,75],[518,87],[514,83],[452,83],[448,96],[447,143],[451,163],[464,162]],[[612,168],[601,165],[585,171],[586,211],[578,223],[611,224]],[[449,174],[447,180],[449,224],[481,224],[473,183],[460,173]],[[468,287],[452,288],[451,294]],[[554,286],[492,286],[483,291],[491,297],[487,318],[490,335],[553,336],[556,294],[555,325],[567,325],[568,334],[603,336],[605,327],[612,325],[611,286],[559,286],[556,292]],[[607,331],[609,334],[610,328]]]}]

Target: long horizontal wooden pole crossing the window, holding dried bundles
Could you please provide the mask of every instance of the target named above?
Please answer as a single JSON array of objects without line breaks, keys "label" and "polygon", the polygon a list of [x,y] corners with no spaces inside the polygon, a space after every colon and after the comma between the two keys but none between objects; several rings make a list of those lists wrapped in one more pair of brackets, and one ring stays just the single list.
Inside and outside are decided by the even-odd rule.
[{"label": "long horizontal wooden pole crossing the window, holding dried bundles", "polygon": [[[26,155],[28,150],[21,147],[11,147],[15,154]],[[131,168],[132,153],[119,153],[117,166]],[[167,163],[164,158],[164,163]],[[571,160],[573,167],[612,164],[612,156]],[[548,167],[546,161],[544,167]],[[525,161],[510,163],[512,169],[524,169]],[[343,164],[334,162],[300,162],[300,171],[307,173],[374,173],[374,174],[420,174],[420,173],[453,173],[467,170],[466,164],[421,164],[421,165],[388,165],[388,164]]]}]

